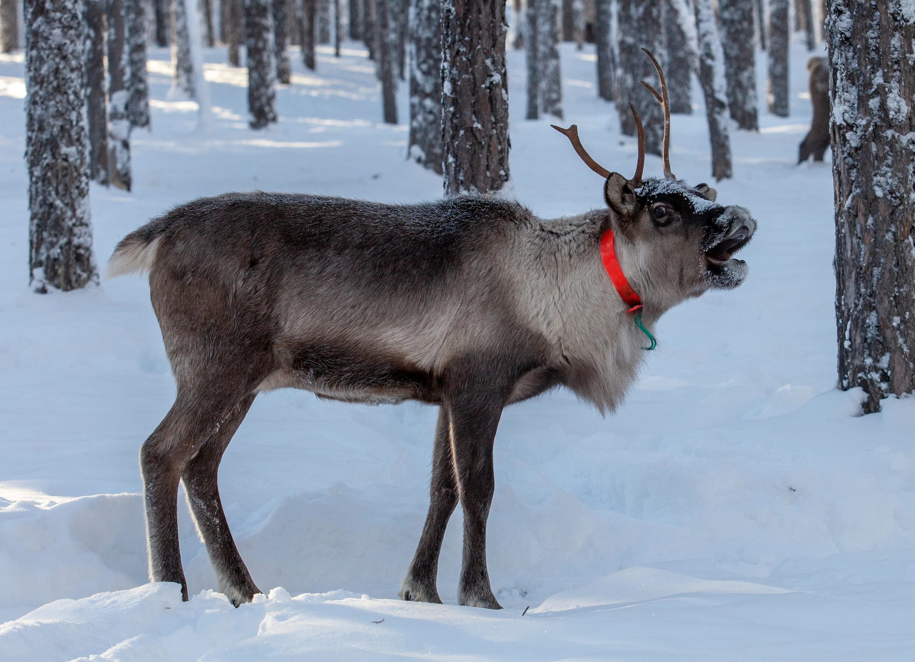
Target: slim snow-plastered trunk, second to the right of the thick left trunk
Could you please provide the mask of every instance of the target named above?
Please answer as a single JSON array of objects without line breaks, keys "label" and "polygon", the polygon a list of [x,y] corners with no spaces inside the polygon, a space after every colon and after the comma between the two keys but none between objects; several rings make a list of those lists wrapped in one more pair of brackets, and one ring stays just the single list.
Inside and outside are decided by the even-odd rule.
[{"label": "slim snow-plastered trunk, second to the right of the thick left trunk", "polygon": [[[183,2],[183,0],[176,0]],[[130,51],[124,0],[108,0],[108,178],[118,189],[130,190],[130,118],[127,81]]]}]

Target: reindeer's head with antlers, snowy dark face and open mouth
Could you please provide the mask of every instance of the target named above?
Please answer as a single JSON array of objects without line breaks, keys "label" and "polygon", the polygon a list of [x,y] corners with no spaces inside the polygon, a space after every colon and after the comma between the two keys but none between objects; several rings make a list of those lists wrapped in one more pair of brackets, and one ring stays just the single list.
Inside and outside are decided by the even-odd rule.
[{"label": "reindeer's head with antlers, snowy dark face and open mouth", "polygon": [[642,81],[642,85],[664,111],[664,179],[641,179],[645,141],[641,119],[631,103],[639,135],[639,161],[632,179],[598,165],[582,147],[576,125],[554,128],[568,137],[589,168],[606,179],[604,199],[611,213],[605,229],[622,235],[630,245],[630,255],[620,260],[623,268],[630,271],[627,276],[633,284],[640,285],[642,298],[667,307],[709,288],[740,285],[747,276],[747,263],[733,255],[749,242],[756,222],[743,207],[718,204],[717,191],[707,184],[691,187],[671,172],[667,82],[651,52],[642,50],[651,58],[661,80],[660,94],[648,83]]}]

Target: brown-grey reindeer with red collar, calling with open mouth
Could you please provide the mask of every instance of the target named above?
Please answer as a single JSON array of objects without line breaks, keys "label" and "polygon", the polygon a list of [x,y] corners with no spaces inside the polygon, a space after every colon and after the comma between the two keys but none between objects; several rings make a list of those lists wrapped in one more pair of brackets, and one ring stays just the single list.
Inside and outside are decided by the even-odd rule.
[{"label": "brown-grey reindeer with red collar, calling with open mouth", "polygon": [[[648,52],[648,51],[646,51]],[[651,57],[651,54],[649,54]],[[670,168],[626,179],[588,156],[606,209],[545,220],[521,204],[463,195],[422,204],[286,193],[228,193],[176,207],[128,234],[108,277],[148,272],[178,395],[140,450],[149,574],[188,587],[178,550],[178,483],[219,589],[260,592],[223,513],[217,472],[258,393],[301,388],[363,403],[438,406],[430,504],[404,600],[441,602],[436,570],[464,511],[458,602],[499,609],[486,565],[501,411],[566,386],[601,412],[618,407],[662,314],[747,274],[733,255],[756,222]],[[635,322],[638,321],[638,324]],[[641,331],[644,329],[644,332]]]}]

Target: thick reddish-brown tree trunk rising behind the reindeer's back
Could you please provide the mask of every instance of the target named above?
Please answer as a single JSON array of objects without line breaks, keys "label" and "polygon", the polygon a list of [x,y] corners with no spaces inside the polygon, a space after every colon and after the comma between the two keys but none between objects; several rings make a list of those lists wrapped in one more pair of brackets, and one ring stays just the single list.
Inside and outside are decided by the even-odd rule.
[{"label": "thick reddish-brown tree trunk rising behind the reindeer's back", "polygon": [[509,180],[505,3],[444,0],[445,193],[501,190]]}]

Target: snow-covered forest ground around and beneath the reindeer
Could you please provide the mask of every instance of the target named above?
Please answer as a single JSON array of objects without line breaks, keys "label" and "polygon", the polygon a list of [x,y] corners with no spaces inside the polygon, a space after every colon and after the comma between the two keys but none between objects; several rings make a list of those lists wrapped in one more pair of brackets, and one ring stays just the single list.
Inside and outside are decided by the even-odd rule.
[{"label": "snow-covered forest ground around and beneath the reindeer", "polygon": [[[168,99],[167,52],[154,51],[135,191],[92,188],[99,262],[149,217],[226,190],[438,196],[440,180],[405,160],[406,127],[379,123],[371,63],[349,46],[339,60],[321,49],[318,73],[296,58],[281,121],[262,132],[247,127],[243,71],[208,52],[210,136],[194,133],[193,103]],[[234,609],[211,591],[183,499],[194,597],[146,583],[137,450],[174,396],[148,288],[124,277],[27,290],[22,62],[4,56],[0,659],[915,658],[915,399],[860,417],[859,394],[834,388],[831,172],[794,165],[806,58],[793,51],[791,117],[734,132],[735,176],[718,185],[759,220],[747,283],[669,313],[615,415],[564,392],[506,410],[489,536],[505,609],[490,612],[455,604],[459,513],[439,572],[449,604],[395,599],[425,517],[435,410],[293,391],[258,398],[221,468],[242,556],[269,595]],[[630,173],[635,143],[596,98],[594,60],[564,45],[565,122]],[[517,197],[544,216],[600,206],[600,179],[565,138],[522,120],[522,53],[509,61]],[[694,100],[694,115],[673,117],[672,160],[698,183],[710,168]],[[660,175],[660,159],[646,171]]]}]

